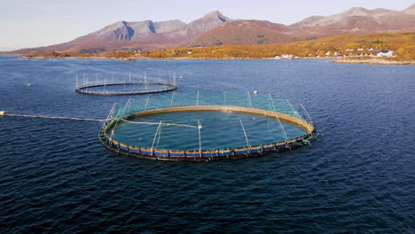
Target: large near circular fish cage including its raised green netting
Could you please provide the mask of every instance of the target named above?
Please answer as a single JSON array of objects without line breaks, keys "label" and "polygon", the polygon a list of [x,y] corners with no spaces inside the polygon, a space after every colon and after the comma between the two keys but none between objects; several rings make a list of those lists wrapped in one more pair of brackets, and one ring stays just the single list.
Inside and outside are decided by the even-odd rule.
[{"label": "large near circular fish cage including its raised green netting", "polygon": [[199,92],[129,99],[113,106],[99,132],[101,144],[120,154],[191,161],[286,152],[317,136],[302,105],[270,95]]}]

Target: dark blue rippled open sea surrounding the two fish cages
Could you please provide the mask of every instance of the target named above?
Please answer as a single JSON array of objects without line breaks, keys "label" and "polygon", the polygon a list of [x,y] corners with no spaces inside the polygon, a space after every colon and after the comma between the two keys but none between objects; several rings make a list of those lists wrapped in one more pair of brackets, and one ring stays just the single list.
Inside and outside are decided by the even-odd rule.
[{"label": "dark blue rippled open sea surrounding the two fish cages", "polygon": [[180,91],[301,103],[324,136],[261,158],[162,162],[107,151],[99,122],[3,116],[0,233],[414,232],[415,66],[7,56],[0,110],[105,119],[132,97],[77,94],[75,73],[156,69],[183,74]]}]

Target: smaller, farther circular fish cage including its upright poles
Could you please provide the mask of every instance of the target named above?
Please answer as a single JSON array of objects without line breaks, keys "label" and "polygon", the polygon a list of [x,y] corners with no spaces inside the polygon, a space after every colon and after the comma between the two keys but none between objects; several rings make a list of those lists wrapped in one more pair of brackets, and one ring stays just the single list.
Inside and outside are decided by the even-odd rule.
[{"label": "smaller, farther circular fish cage including its upright poles", "polygon": [[147,78],[135,77],[129,74],[128,77],[121,76],[114,79],[114,75],[100,75],[96,77],[83,77],[80,84],[76,75],[75,92],[87,95],[98,96],[121,96],[121,95],[143,95],[177,90],[176,74],[168,78]]}]

